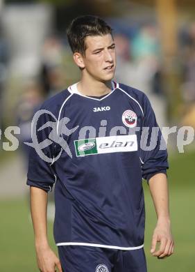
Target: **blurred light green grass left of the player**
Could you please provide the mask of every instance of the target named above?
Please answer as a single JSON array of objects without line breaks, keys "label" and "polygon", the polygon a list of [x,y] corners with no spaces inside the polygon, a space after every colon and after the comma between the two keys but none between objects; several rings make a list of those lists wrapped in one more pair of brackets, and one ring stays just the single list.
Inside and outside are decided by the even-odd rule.
[{"label": "blurred light green grass left of the player", "polygon": [[[0,204],[0,214],[0,271],[38,271],[28,200],[3,201]],[[55,248],[52,232],[52,224],[49,223],[49,241],[52,248]]]}]

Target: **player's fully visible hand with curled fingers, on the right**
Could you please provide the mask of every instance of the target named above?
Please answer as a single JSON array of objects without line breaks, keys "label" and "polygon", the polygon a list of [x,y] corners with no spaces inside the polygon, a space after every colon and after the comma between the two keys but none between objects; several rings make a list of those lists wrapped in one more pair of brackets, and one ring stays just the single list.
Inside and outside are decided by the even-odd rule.
[{"label": "player's fully visible hand with curled fingers, on the right", "polygon": [[[155,250],[156,244],[160,242],[160,248]],[[153,232],[153,239],[151,244],[151,253],[153,256],[158,257],[158,259],[163,259],[164,257],[169,257],[173,254],[174,241],[171,234],[170,222],[166,218],[161,218]]]}]

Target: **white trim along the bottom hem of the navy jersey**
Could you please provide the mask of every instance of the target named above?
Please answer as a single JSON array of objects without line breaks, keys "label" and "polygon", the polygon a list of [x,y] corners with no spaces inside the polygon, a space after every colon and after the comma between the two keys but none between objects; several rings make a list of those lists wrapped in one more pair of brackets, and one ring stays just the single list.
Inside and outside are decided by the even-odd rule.
[{"label": "white trim along the bottom hem of the navy jersey", "polygon": [[99,243],[78,243],[78,242],[69,242],[69,243],[56,243],[57,246],[60,245],[87,245],[87,246],[94,246],[97,248],[112,248],[112,249],[118,249],[118,250],[137,250],[140,248],[144,248],[144,244],[143,245],[139,245],[139,246],[134,246],[134,247],[121,247],[121,246],[117,246],[117,245],[100,245]]}]

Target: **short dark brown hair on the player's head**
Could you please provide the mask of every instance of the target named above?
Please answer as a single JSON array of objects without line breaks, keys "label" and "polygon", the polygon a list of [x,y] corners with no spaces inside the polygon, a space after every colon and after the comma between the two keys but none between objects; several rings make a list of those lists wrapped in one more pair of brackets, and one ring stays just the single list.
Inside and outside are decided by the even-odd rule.
[{"label": "short dark brown hair on the player's head", "polygon": [[100,17],[85,15],[76,17],[67,28],[67,38],[71,51],[85,54],[87,36],[112,35],[112,28]]}]

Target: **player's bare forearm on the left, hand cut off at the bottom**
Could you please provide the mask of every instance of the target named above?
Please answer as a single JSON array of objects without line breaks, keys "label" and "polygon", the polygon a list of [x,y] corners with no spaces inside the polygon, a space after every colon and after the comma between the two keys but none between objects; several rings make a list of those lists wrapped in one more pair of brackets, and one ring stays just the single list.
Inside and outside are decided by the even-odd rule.
[{"label": "player's bare forearm on the left, hand cut off at the bottom", "polygon": [[35,249],[37,265],[42,272],[55,272],[55,267],[62,272],[60,260],[49,247],[47,240],[47,192],[40,188],[30,188],[31,194],[31,217],[35,233]]}]

